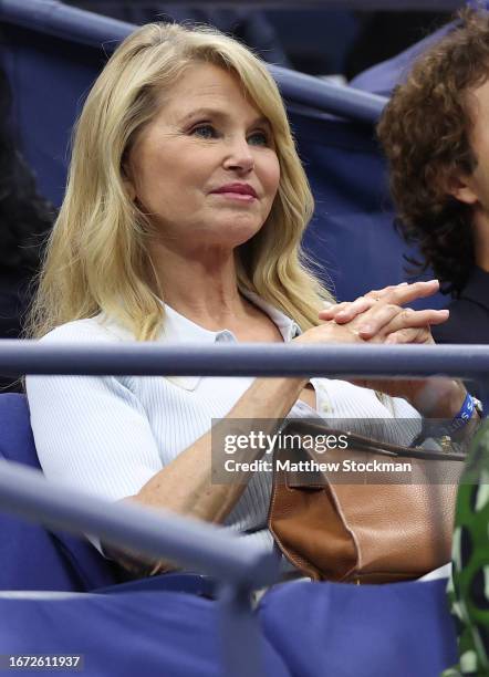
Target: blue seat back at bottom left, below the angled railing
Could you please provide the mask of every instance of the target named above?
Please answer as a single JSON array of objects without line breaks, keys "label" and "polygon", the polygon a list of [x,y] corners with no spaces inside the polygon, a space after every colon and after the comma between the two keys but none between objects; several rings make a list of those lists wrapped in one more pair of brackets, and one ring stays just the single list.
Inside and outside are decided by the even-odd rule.
[{"label": "blue seat back at bottom left, below the angled railing", "polygon": [[[0,593],[0,618],[9,619],[0,622],[0,654],[83,654],[84,677],[236,675],[222,666],[217,603],[191,595],[150,592],[9,600]],[[235,637],[236,643],[245,639]],[[267,677],[291,677],[262,637],[260,649]],[[46,673],[60,670],[42,671]],[[22,674],[39,675],[39,669]]]}]

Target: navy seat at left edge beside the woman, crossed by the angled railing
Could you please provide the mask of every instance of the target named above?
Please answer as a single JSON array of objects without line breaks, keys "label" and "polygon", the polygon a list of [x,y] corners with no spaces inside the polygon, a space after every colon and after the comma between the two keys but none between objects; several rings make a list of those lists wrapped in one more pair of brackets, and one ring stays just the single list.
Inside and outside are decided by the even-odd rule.
[{"label": "navy seat at left edge beside the woman, crossed by the angled railing", "polygon": [[[0,457],[41,470],[23,395],[0,395]],[[85,592],[118,582],[87,541],[0,512],[0,590]]]}]

